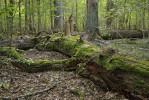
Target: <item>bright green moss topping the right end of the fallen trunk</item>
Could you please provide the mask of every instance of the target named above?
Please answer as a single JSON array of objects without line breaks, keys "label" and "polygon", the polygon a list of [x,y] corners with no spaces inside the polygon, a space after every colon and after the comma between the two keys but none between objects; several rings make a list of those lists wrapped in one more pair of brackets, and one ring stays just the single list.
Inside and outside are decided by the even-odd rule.
[{"label": "bright green moss topping the right end of the fallen trunk", "polygon": [[107,60],[104,66],[107,70],[113,71],[115,69],[121,69],[124,71],[137,72],[145,77],[149,77],[149,65],[148,62],[135,61],[125,57],[112,57]]}]

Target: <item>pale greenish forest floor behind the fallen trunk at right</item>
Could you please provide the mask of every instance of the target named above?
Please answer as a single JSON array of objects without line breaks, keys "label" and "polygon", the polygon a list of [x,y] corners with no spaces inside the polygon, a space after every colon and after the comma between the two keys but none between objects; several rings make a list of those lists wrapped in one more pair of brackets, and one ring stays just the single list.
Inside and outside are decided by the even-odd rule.
[{"label": "pale greenish forest floor behind the fallen trunk at right", "polygon": [[117,54],[136,60],[149,61],[149,39],[114,39],[101,40],[93,42],[100,46],[102,50],[113,48],[117,50]]}]

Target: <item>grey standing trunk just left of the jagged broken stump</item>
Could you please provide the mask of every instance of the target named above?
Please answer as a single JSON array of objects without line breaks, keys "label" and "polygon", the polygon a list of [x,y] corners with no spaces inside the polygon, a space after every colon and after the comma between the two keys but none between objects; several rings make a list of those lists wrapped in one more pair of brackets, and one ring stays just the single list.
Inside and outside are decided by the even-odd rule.
[{"label": "grey standing trunk just left of the jagged broken stump", "polygon": [[63,31],[63,13],[62,13],[62,0],[55,0],[54,6],[57,10],[54,11],[55,18],[54,18],[54,29],[55,31]]}]

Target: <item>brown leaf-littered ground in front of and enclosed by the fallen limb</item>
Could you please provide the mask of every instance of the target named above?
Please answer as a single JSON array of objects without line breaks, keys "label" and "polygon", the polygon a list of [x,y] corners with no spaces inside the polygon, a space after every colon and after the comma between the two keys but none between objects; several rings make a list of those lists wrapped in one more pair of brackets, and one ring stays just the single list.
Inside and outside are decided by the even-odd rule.
[{"label": "brown leaf-littered ground in front of and enclosed by the fallen limb", "polygon": [[[29,49],[21,52],[26,59],[60,60],[67,58],[58,52]],[[9,61],[0,66],[0,98],[19,100],[126,100],[123,95],[104,92],[91,80],[74,72],[21,72]]]}]

